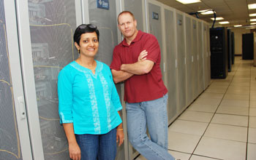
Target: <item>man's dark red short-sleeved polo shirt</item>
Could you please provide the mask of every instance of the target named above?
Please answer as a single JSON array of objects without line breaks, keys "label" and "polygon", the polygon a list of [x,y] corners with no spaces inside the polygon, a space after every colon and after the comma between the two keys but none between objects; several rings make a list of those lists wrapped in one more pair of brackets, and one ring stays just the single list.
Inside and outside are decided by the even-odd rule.
[{"label": "man's dark red short-sleeved polo shirt", "polygon": [[156,100],[167,93],[160,68],[160,47],[157,38],[152,34],[138,31],[130,45],[125,39],[121,41],[113,50],[110,68],[120,71],[121,64],[138,62],[138,56],[144,49],[148,52],[146,59],[153,61],[154,66],[149,73],[133,75],[124,81],[124,101],[128,103]]}]

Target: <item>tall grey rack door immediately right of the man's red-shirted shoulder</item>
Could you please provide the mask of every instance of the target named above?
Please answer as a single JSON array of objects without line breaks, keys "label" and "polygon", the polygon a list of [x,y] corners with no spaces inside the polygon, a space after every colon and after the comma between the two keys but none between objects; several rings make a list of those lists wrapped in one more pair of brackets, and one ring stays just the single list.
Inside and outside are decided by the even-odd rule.
[{"label": "tall grey rack door immediately right of the man's red-shirted shoulder", "polygon": [[174,12],[170,9],[165,10],[165,47],[166,47],[166,86],[168,89],[168,121],[169,124],[175,118],[177,111],[177,69],[176,69],[176,38],[174,26]]}]

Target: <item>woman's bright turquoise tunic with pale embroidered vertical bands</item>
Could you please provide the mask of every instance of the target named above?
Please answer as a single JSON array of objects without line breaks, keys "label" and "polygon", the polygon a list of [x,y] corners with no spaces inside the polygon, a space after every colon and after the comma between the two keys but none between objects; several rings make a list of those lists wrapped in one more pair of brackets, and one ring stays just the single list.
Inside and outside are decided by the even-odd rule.
[{"label": "woman's bright turquoise tunic with pale embroidered vertical bands", "polygon": [[75,61],[58,76],[60,123],[73,123],[75,134],[99,135],[121,124],[122,109],[110,68],[97,61],[95,74]]}]

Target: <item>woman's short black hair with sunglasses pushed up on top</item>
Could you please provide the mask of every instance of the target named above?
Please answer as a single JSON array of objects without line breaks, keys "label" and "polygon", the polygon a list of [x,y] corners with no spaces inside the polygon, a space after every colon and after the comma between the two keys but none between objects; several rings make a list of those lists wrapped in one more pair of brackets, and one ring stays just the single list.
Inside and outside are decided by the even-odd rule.
[{"label": "woman's short black hair with sunglasses pushed up on top", "polygon": [[77,44],[79,45],[80,43],[80,38],[81,35],[83,33],[97,33],[97,39],[99,41],[99,30],[97,29],[96,25],[91,25],[91,24],[82,24],[79,25],[78,28],[75,29],[75,33],[74,33],[74,41],[77,42]]}]

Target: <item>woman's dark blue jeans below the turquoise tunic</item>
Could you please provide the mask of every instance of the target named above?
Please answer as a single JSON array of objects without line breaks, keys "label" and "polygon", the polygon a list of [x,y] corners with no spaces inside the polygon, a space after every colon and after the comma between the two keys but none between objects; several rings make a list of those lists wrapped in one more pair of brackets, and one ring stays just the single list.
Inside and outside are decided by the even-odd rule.
[{"label": "woman's dark blue jeans below the turquoise tunic", "polygon": [[81,160],[114,160],[116,158],[116,128],[104,135],[75,135],[81,150]]}]

